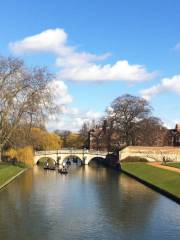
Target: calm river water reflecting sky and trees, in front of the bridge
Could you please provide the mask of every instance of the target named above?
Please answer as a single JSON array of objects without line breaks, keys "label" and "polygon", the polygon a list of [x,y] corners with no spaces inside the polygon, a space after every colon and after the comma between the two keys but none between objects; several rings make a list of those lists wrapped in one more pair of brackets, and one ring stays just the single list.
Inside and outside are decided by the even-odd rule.
[{"label": "calm river water reflecting sky and trees, in front of the bridge", "polygon": [[34,167],[0,191],[1,240],[180,239],[180,206],[102,167]]}]

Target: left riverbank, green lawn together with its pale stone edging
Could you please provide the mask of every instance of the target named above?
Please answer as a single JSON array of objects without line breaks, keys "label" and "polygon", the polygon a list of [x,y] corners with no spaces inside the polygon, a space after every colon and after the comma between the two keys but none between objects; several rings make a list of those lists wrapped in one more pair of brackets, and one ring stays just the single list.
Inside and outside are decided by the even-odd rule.
[{"label": "left riverbank, green lawn together with its pale stone edging", "polygon": [[26,170],[27,168],[14,166],[7,163],[0,163],[0,189],[5,187]]}]

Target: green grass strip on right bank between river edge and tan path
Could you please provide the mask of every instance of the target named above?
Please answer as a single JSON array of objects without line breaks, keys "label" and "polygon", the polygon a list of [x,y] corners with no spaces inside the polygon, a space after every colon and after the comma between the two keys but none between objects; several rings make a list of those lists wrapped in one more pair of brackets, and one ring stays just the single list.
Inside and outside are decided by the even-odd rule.
[{"label": "green grass strip on right bank between river edge and tan path", "polygon": [[146,163],[122,163],[121,167],[122,170],[180,198],[180,173],[153,167]]}]

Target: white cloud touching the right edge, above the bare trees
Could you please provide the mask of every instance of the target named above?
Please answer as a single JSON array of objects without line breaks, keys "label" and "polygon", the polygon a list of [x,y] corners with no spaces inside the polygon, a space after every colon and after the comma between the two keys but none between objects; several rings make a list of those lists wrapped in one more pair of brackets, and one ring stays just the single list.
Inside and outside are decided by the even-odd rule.
[{"label": "white cloud touching the right edge, above the bare trees", "polygon": [[173,76],[172,78],[163,78],[159,84],[142,90],[141,95],[145,99],[150,100],[154,95],[167,91],[180,94],[180,75]]}]

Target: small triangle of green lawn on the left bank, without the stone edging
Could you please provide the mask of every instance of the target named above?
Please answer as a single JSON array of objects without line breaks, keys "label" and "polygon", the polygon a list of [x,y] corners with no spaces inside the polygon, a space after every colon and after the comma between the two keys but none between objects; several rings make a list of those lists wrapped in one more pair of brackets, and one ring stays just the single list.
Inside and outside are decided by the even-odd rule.
[{"label": "small triangle of green lawn on the left bank, without the stone edging", "polygon": [[22,170],[23,168],[19,166],[0,163],[0,186]]}]

